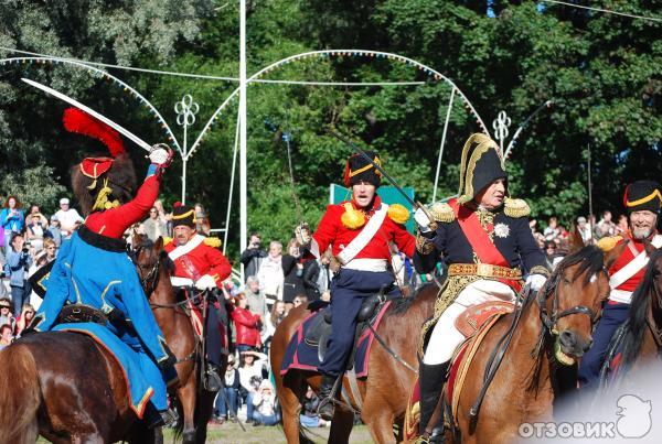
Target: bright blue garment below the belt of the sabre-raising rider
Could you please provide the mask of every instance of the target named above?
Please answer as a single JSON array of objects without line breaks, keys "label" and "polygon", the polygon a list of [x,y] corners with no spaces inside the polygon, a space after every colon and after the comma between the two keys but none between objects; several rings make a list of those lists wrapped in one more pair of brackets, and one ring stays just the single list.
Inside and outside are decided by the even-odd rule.
[{"label": "bright blue garment below the belt of the sabre-raising rider", "polygon": [[106,314],[115,308],[130,325],[109,321],[106,326],[111,332],[137,351],[147,349],[157,362],[168,359],[163,333],[126,251],[93,246],[74,232],[62,243],[45,286],[34,329],[52,329],[67,303],[90,305]]}]

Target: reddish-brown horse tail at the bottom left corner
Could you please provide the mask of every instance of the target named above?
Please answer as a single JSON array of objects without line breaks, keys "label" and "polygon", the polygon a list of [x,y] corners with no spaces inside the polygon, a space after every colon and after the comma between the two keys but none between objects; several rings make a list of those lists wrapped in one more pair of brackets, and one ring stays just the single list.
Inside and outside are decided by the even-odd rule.
[{"label": "reddish-brown horse tail at the bottom left corner", "polygon": [[41,391],[30,349],[14,344],[0,351],[0,444],[34,443]]}]

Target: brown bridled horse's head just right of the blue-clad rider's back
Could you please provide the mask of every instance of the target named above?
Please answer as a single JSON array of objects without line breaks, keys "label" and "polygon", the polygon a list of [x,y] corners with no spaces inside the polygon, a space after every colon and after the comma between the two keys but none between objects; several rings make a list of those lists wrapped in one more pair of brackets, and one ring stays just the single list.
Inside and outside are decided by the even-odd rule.
[{"label": "brown bridled horse's head just right of the blue-clad rider's back", "polygon": [[153,242],[145,235],[134,234],[131,248],[140,284],[145,294],[150,297],[157,289],[161,273],[168,274],[171,268],[168,252],[163,249],[163,238],[159,237]]}]

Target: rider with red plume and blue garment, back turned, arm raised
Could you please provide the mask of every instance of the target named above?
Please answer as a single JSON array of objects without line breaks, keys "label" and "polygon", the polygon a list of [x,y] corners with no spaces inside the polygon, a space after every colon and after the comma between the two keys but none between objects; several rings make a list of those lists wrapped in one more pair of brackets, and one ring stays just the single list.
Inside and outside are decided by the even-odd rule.
[{"label": "rider with red plume and blue garment, back turned, arm raised", "polygon": [[159,369],[169,369],[175,359],[157,325],[121,237],[128,227],[147,217],[159,195],[163,171],[172,161],[172,150],[163,144],[151,149],[147,177],[134,198],[136,173],[119,134],[76,108],[67,109],[63,120],[68,131],[100,140],[113,158],[86,158],[72,169],[72,187],[87,218],[62,243],[31,329],[52,329],[60,322],[65,304],[100,312],[102,318],[108,320],[105,324],[108,329],[134,351],[149,356],[143,376],[154,390],[150,402],[160,413],[148,411],[150,425],[171,423],[174,415],[168,409],[166,383]]}]

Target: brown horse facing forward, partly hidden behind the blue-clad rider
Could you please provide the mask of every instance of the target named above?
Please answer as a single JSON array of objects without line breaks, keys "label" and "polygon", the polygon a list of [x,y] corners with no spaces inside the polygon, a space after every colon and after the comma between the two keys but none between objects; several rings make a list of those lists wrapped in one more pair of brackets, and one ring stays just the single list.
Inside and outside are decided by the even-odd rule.
[{"label": "brown horse facing forward, partly hidden behind the blue-clad rider", "polygon": [[[184,443],[204,443],[206,425],[214,412],[216,392],[204,389],[202,380],[202,356],[200,344],[184,306],[178,301],[170,275],[172,261],[163,249],[163,239],[151,242],[143,235],[132,237],[138,275],[161,327],[168,346],[178,357],[175,365],[179,382],[174,387],[178,410],[183,422],[178,424],[178,434]],[[225,366],[225,362],[223,362]]]}]

